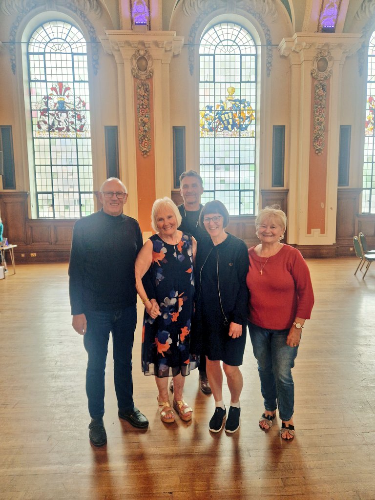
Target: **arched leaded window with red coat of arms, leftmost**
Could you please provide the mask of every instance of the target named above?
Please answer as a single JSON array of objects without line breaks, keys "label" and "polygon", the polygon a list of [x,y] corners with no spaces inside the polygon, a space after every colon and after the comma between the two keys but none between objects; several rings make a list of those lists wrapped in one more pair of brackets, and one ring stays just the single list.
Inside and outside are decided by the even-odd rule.
[{"label": "arched leaded window with red coat of arms, leftmost", "polygon": [[72,24],[49,21],[27,45],[38,217],[93,211],[86,42]]}]

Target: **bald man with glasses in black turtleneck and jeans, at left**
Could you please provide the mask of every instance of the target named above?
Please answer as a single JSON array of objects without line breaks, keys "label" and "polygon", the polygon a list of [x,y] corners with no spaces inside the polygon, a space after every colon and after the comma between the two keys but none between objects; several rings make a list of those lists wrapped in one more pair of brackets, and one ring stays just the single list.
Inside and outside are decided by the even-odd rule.
[{"label": "bald man with glasses in black turtleneck and jeans, at left", "polygon": [[119,179],[110,177],[102,184],[99,200],[101,210],[74,224],[69,262],[72,326],[83,335],[88,354],[88,427],[95,446],[106,442],[104,369],[110,332],[118,416],[134,427],[148,425],[147,418],[134,406],[131,376],[136,324],[134,262],[142,235],[138,222],[122,213],[127,191]]}]

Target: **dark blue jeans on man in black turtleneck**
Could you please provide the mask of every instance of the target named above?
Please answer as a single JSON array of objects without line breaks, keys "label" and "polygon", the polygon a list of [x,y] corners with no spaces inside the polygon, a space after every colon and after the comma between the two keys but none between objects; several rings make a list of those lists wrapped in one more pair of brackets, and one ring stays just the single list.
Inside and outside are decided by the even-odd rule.
[{"label": "dark blue jeans on man in black turtleneck", "polygon": [[131,350],[136,324],[136,306],[114,311],[86,311],[87,330],[83,345],[88,354],[86,394],[91,418],[104,414],[104,373],[109,332],[112,332],[114,388],[118,408],[134,407]]}]

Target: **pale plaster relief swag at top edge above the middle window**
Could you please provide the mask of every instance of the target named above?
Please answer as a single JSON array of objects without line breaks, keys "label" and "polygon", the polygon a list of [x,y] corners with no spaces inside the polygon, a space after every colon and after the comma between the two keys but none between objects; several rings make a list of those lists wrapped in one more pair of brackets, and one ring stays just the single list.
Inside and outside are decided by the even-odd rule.
[{"label": "pale plaster relief swag at top edge above the middle window", "polygon": [[[193,15],[199,13],[201,10],[206,10],[212,0],[183,0],[182,10],[185,15]],[[243,9],[252,8],[262,15],[269,15],[272,20],[277,19],[277,9],[274,0],[215,0],[216,8],[227,7],[230,10],[233,7]]]}]

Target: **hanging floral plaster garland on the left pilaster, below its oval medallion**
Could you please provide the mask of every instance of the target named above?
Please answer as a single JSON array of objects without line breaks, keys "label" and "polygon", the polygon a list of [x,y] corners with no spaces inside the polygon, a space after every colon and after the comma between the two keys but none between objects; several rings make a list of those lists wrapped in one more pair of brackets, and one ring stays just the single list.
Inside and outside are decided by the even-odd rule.
[{"label": "hanging floral plaster garland on the left pilaster, below its oval medallion", "polygon": [[151,150],[150,85],[136,80],[136,114],[138,124],[138,147],[145,158]]}]

